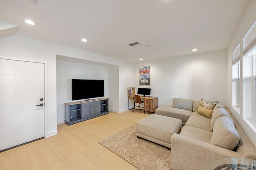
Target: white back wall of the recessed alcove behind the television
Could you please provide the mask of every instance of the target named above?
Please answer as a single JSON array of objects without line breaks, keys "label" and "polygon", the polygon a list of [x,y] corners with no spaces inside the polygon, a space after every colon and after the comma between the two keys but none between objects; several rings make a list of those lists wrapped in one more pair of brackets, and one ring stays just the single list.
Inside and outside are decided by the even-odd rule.
[{"label": "white back wall of the recessed alcove behind the television", "polygon": [[64,103],[72,102],[72,79],[104,80],[104,97],[108,98],[108,67],[57,60],[57,124],[64,123]]}]

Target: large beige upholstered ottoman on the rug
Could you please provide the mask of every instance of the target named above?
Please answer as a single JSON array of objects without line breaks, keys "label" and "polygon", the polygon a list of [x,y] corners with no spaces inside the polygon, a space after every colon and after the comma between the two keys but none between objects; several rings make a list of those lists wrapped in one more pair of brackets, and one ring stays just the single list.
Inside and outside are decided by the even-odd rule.
[{"label": "large beige upholstered ottoman on the rug", "polygon": [[180,119],[151,114],[136,123],[136,135],[170,150],[172,134],[179,133],[181,124]]}]

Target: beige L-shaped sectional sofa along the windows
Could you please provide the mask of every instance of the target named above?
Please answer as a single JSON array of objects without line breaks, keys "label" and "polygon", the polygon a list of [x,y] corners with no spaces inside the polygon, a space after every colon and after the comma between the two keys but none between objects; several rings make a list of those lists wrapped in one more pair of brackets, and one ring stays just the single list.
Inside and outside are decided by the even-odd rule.
[{"label": "beige L-shaped sectional sofa along the windows", "polygon": [[220,102],[216,103],[211,119],[195,112],[200,101],[175,98],[173,107],[156,109],[156,114],[180,118],[185,124],[180,134],[174,133],[171,137],[173,170],[200,170],[219,158],[256,160],[256,148],[230,110]]}]

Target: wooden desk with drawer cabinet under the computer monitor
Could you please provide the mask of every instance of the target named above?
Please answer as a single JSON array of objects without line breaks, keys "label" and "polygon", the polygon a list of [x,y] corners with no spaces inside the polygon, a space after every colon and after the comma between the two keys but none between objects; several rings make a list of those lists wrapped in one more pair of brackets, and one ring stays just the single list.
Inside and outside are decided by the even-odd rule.
[{"label": "wooden desk with drawer cabinet under the computer monitor", "polygon": [[[149,112],[154,112],[158,107],[158,98],[156,97],[144,97],[140,96],[140,98],[144,99],[144,110]],[[129,99],[133,99],[133,95],[128,96],[128,103]],[[130,104],[128,104],[129,107]],[[130,110],[130,109],[129,109]]]}]

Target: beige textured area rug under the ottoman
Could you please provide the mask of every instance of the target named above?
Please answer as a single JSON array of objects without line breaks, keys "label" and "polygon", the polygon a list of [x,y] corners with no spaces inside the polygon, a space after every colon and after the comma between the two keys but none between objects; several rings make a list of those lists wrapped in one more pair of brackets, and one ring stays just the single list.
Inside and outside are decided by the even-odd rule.
[{"label": "beige textured area rug under the ottoman", "polygon": [[136,125],[99,142],[140,170],[170,170],[171,151],[136,136]]}]

